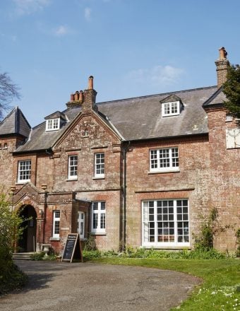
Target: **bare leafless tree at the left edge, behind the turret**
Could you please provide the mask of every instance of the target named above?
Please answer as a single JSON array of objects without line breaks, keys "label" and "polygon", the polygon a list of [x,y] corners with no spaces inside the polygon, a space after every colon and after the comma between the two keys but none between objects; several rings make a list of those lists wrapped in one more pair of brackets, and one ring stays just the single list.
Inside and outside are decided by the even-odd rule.
[{"label": "bare leafless tree at the left edge, behind the turret", "polygon": [[0,119],[3,117],[4,111],[11,109],[10,102],[13,98],[20,99],[18,86],[11,81],[6,72],[0,73]]}]

